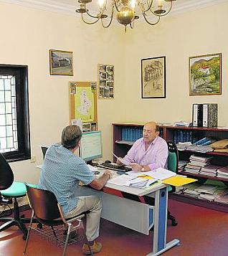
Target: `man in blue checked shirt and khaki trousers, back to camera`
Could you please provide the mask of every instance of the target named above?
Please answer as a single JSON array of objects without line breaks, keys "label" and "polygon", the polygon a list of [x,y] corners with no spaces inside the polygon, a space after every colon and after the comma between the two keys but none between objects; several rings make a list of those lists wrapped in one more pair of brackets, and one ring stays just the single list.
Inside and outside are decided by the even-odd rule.
[{"label": "man in blue checked shirt and khaki trousers, back to camera", "polygon": [[[90,211],[86,214],[86,236],[92,252],[100,252],[102,245],[95,239],[99,236],[101,199],[99,196],[76,196],[75,191],[80,181],[93,189],[102,189],[111,172],[106,170],[103,176],[95,179],[85,161],[74,154],[81,138],[78,125],[68,125],[63,129],[61,145],[55,144],[47,149],[38,187],[54,193],[66,218]],[[82,252],[90,255],[88,245],[83,245]]]}]

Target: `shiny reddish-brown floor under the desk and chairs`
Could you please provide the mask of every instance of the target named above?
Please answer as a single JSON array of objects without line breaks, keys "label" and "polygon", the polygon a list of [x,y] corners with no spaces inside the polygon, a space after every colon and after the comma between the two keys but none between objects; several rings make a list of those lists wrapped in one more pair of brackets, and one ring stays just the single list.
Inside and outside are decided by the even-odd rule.
[{"label": "shiny reddish-brown floor under the desk and chairs", "polygon": [[[168,223],[167,241],[179,238],[181,245],[163,253],[164,256],[227,256],[228,214],[169,200],[171,214],[178,220],[176,227]],[[29,214],[29,211],[27,211]],[[145,235],[102,219],[99,256],[141,256],[151,252],[152,234]],[[0,255],[23,255],[22,233],[12,227],[0,233]],[[82,242],[67,247],[67,255],[82,255]],[[58,256],[62,249],[32,233],[27,256]]]}]

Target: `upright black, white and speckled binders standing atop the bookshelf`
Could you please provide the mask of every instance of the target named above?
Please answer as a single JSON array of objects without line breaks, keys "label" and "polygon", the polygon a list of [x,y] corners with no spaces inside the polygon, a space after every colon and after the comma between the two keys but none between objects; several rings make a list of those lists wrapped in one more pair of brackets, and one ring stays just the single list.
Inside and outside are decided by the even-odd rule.
[{"label": "upright black, white and speckled binders standing atop the bookshelf", "polygon": [[192,125],[198,127],[218,126],[218,104],[193,104]]}]

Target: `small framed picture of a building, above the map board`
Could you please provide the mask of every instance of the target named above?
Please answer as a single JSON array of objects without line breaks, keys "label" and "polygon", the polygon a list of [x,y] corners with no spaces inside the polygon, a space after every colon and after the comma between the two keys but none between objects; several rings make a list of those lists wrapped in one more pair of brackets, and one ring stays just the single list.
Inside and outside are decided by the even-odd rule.
[{"label": "small framed picture of a building, above the map board", "polygon": [[49,50],[50,75],[73,75],[73,52]]}]

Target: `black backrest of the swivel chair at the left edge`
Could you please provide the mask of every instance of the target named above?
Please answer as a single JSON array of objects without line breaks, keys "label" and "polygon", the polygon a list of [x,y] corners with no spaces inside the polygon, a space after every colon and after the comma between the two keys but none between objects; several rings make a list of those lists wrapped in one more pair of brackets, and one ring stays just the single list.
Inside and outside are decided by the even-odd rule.
[{"label": "black backrest of the swivel chair at the left edge", "polygon": [[14,173],[6,161],[4,156],[0,153],[0,190],[8,189],[14,182]]}]

